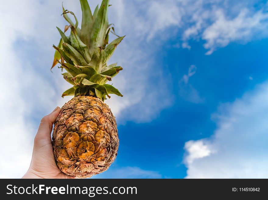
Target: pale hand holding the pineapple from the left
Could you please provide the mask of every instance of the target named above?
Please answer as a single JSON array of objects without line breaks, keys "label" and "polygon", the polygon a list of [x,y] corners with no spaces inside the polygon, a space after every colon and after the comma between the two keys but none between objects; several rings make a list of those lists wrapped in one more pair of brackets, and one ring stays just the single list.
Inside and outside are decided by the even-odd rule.
[{"label": "pale hand holding the pineapple from the left", "polygon": [[34,138],[31,164],[22,178],[76,178],[62,173],[53,155],[51,132],[60,110],[60,107],[56,107],[41,119]]}]

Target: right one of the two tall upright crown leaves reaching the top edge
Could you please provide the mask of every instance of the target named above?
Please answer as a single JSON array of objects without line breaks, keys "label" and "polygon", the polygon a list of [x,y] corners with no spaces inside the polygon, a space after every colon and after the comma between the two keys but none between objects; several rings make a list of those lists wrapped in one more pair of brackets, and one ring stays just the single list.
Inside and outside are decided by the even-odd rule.
[{"label": "right one of the two tall upright crown leaves reaching the top edge", "polygon": [[104,38],[108,26],[108,4],[109,0],[103,0],[93,23],[90,37],[90,54],[92,55],[97,47],[104,45]]}]

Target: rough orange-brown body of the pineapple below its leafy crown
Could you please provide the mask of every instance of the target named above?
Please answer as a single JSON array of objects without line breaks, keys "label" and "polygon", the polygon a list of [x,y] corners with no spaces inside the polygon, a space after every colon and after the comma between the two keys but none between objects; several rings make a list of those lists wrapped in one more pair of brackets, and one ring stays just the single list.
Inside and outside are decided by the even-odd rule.
[{"label": "rough orange-brown body of the pineapple below its leafy crown", "polygon": [[88,178],[106,171],[117,156],[115,117],[107,104],[92,96],[77,96],[64,104],[54,123],[53,152],[59,169]]}]

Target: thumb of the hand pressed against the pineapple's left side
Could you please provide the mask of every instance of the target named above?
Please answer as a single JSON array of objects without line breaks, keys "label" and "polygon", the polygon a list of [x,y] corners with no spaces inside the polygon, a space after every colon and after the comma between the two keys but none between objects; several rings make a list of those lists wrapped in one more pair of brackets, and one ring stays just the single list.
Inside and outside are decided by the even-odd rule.
[{"label": "thumb of the hand pressed against the pineapple's left side", "polygon": [[37,142],[42,139],[45,139],[51,142],[51,131],[52,131],[53,123],[58,117],[60,110],[61,110],[60,107],[56,107],[54,111],[52,111],[50,114],[44,116],[41,119],[37,134],[34,138],[34,142]]}]

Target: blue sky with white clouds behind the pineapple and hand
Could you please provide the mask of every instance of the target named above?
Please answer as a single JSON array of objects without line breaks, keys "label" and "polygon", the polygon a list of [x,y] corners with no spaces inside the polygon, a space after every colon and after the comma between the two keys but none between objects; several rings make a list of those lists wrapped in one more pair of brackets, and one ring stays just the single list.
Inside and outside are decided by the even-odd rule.
[{"label": "blue sky with white clouds behind the pineapple and hand", "polygon": [[[10,68],[1,70],[10,89],[0,99],[1,134],[9,132],[6,139],[21,155],[14,160],[13,147],[1,147],[8,153],[0,177],[19,177],[41,117],[71,98],[60,97],[69,87],[60,70],[49,70],[55,26],[66,22],[61,1],[5,4],[1,58]],[[267,2],[111,4],[109,20],[126,35],[110,61],[124,68],[113,80],[124,97],[105,102],[116,116],[120,146],[109,170],[94,178],[267,178]],[[81,22],[79,1],[64,5]],[[18,162],[14,172],[10,166]]]}]

